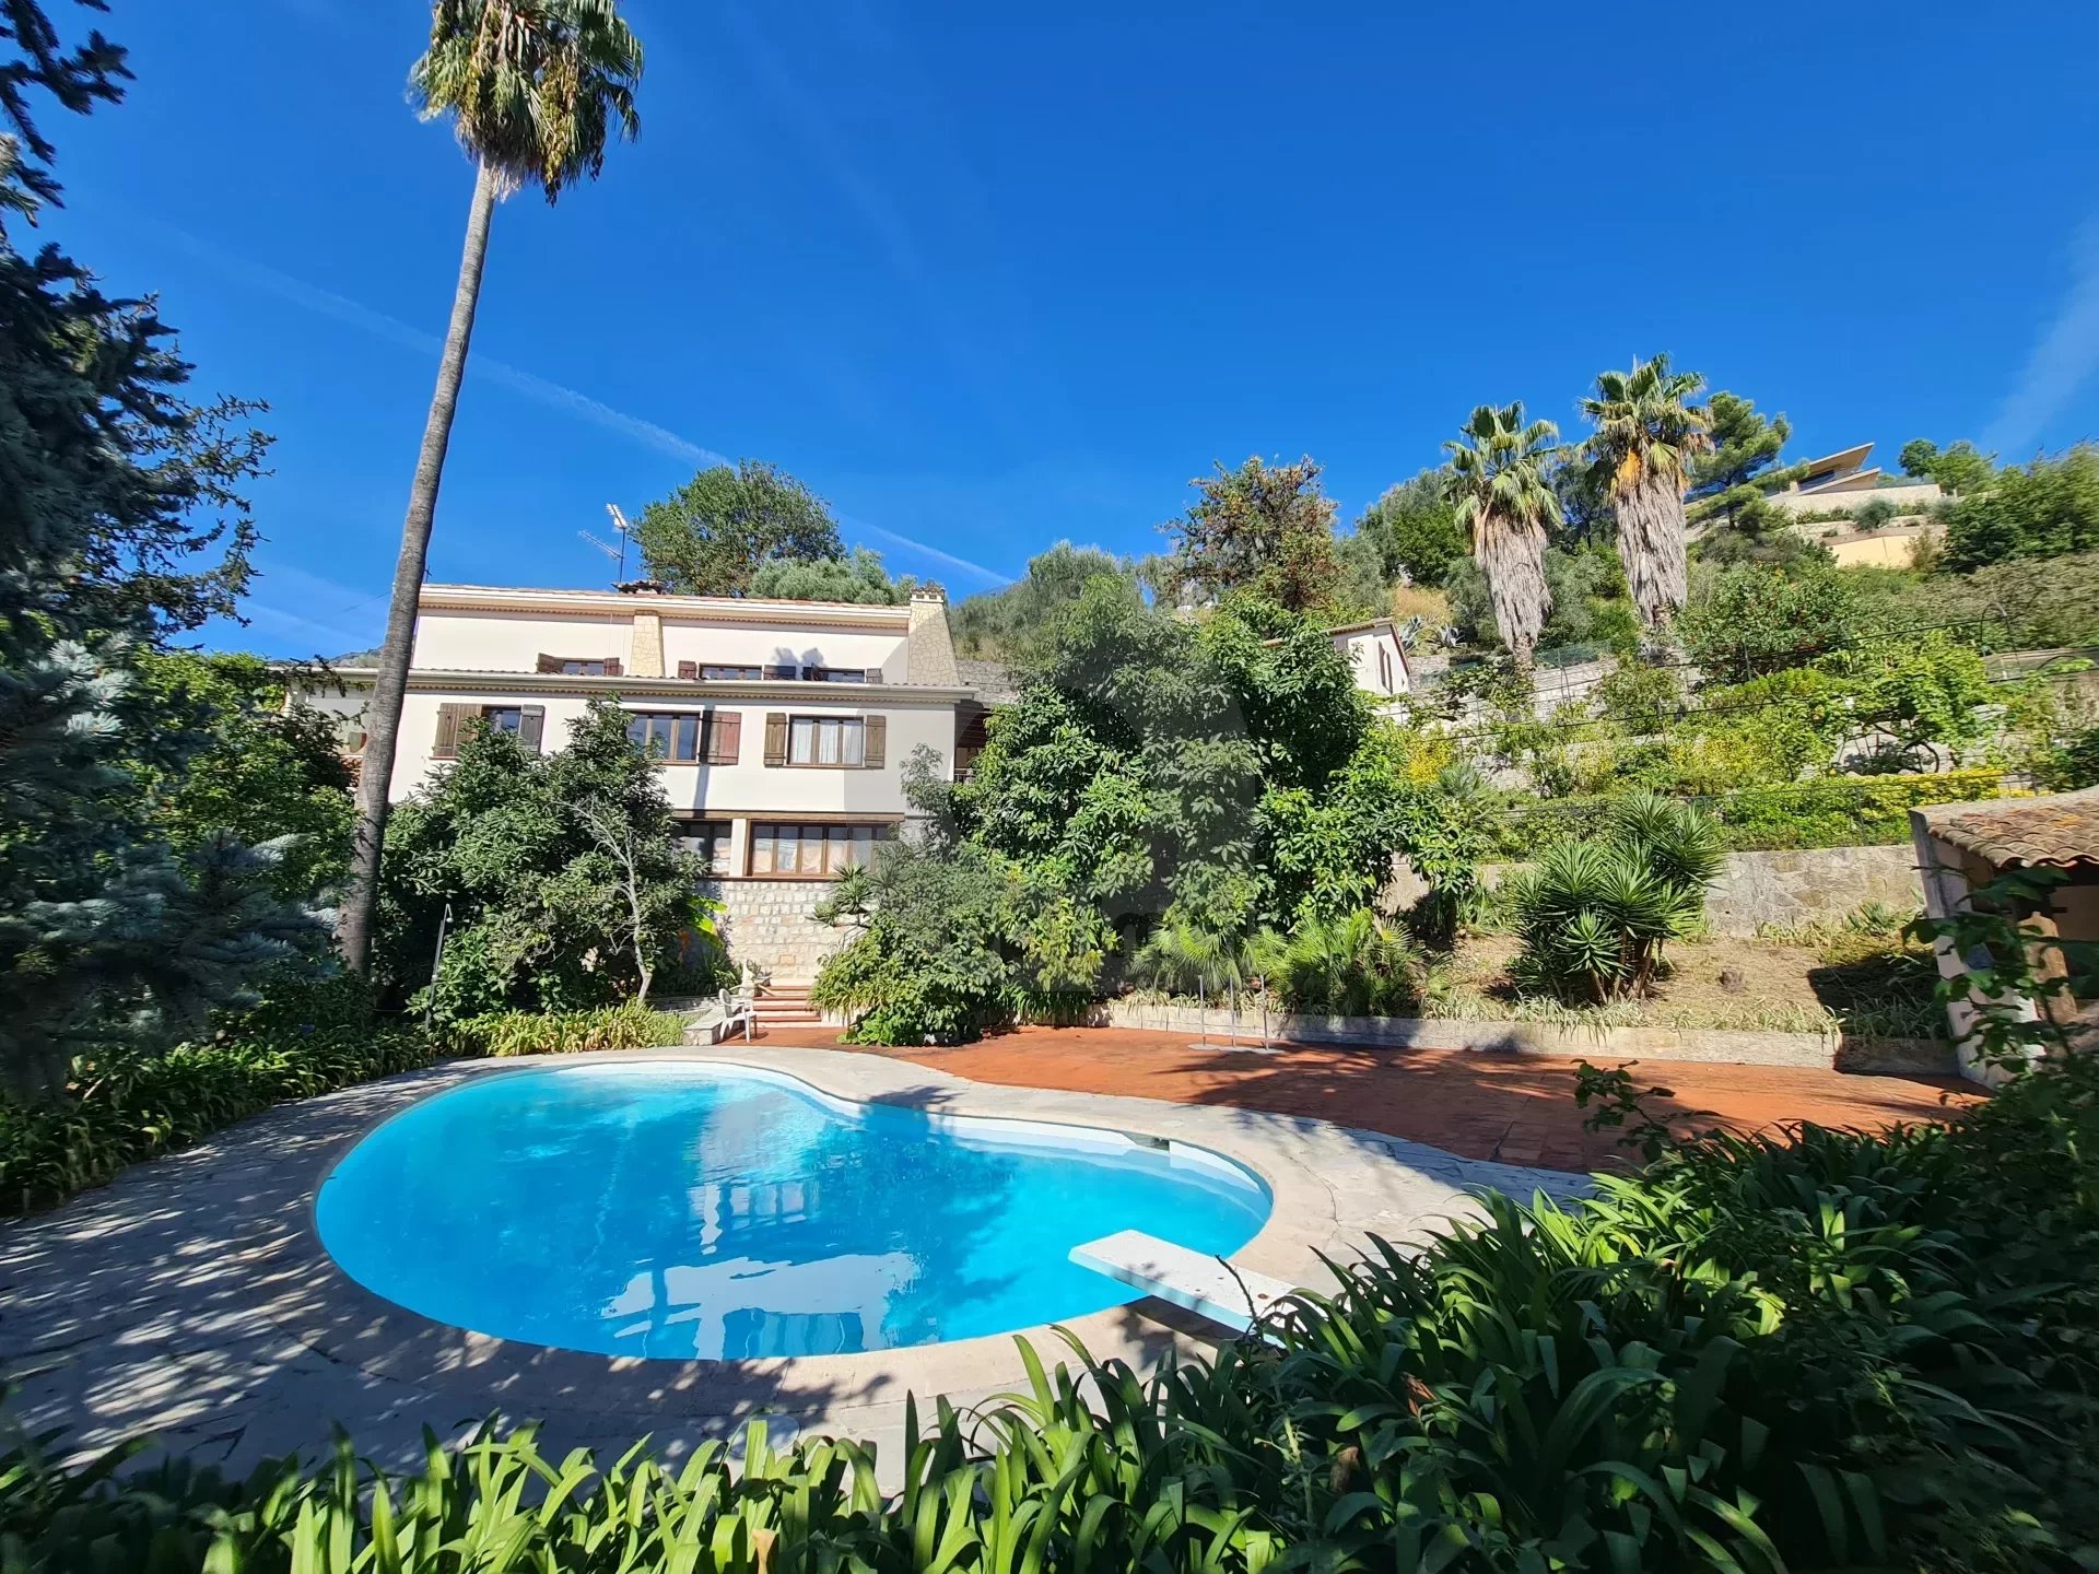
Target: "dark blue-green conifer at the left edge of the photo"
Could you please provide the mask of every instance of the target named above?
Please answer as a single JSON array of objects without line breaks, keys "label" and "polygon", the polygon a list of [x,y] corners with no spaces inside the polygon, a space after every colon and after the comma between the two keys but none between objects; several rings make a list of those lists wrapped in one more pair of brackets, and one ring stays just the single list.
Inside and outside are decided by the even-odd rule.
[{"label": "dark blue-green conifer at the left edge of the photo", "polygon": [[[86,111],[128,73],[101,36],[65,52],[34,0],[0,0],[0,208],[34,214],[59,185],[27,90]],[[126,768],[199,747],[145,714],[134,663],[235,611],[254,546],[237,489],[269,439],[187,378],[149,304],[0,235],[0,1079],[23,1089],[202,1026],[321,934],[269,896],[275,848],[176,854]]]}]

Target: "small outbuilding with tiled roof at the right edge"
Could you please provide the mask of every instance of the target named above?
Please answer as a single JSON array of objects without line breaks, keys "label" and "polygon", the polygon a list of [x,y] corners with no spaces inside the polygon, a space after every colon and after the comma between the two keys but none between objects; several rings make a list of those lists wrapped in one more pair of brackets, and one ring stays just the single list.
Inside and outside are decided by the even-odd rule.
[{"label": "small outbuilding with tiled roof at the right edge", "polygon": [[[1931,917],[1960,913],[1973,892],[2007,871],[2059,873],[2059,884],[2049,890],[2047,902],[2026,905],[2017,917],[2038,936],[2030,946],[2034,974],[2063,978],[2070,991],[2038,1007],[2028,1003],[2028,1009],[2047,1009],[2051,1020],[2065,1028],[2074,1047],[2099,1041],[2099,993],[2086,982],[2072,982],[2063,961],[2065,942],[2099,942],[2099,787],[2049,797],[1912,808],[1910,839],[1925,888],[1925,913]],[[1944,978],[1960,978],[1971,970],[1971,959],[1944,940],[1937,942],[1937,963]],[[1975,1026],[1975,1005],[1956,1001],[1948,1018],[1954,1039],[1965,1039]],[[1960,1064],[1977,1081],[1988,1081],[1971,1064],[1967,1049],[1960,1054]]]}]

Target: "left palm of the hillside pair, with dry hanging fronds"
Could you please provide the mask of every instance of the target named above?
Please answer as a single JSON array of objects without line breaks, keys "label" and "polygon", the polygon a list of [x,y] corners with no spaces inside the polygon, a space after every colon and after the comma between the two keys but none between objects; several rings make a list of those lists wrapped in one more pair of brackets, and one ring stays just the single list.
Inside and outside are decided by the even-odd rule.
[{"label": "left palm of the hillside pair, with dry hanging fronds", "polygon": [[1560,525],[1560,497],[1545,476],[1560,451],[1560,428],[1524,424],[1524,403],[1480,405],[1465,432],[1444,443],[1450,455],[1444,491],[1457,523],[1471,533],[1471,554],[1486,571],[1494,628],[1515,665],[1528,667],[1553,609],[1545,586],[1545,531]]}]

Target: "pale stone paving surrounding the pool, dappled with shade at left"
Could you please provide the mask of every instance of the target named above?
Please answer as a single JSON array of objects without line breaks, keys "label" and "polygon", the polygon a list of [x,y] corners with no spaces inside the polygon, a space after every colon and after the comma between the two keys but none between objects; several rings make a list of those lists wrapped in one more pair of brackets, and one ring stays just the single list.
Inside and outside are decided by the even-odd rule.
[{"label": "pale stone paving surrounding the pool, dappled with shade at left", "polygon": [[[1566,1194],[1581,1186],[1566,1173],[1465,1158],[1306,1114],[991,1085],[949,1066],[777,1039],[605,1056],[646,1058],[743,1060],[852,1100],[1213,1148],[1274,1190],[1268,1226],[1234,1263],[1310,1286],[1327,1282],[1320,1253],[1352,1257],[1369,1234],[1419,1238],[1469,1211],[1476,1188]],[[554,1064],[586,1060],[598,1056]],[[170,1450],[246,1469],[275,1454],[313,1454],[330,1423],[369,1456],[407,1465],[424,1427],[460,1438],[489,1415],[544,1421],[556,1454],[579,1444],[617,1454],[642,1433],[678,1454],[768,1417],[775,1438],[869,1438],[894,1469],[907,1391],[966,1406],[1020,1387],[1012,1337],[865,1356],[615,1360],[449,1328],[344,1278],[313,1232],[313,1196],[330,1165],[407,1104],[531,1064],[548,1062],[460,1062],[288,1104],[0,1228],[0,1375],[17,1387],[8,1419],[29,1431],[63,1427],[67,1452],[157,1433]],[[401,1205],[399,1238],[401,1251],[441,1249],[418,1238],[411,1198]],[[1073,1331],[1096,1356],[1136,1362],[1199,1343],[1180,1314],[1150,1301],[1079,1318]],[[1029,1333],[1045,1358],[1066,1354],[1047,1328]]]}]

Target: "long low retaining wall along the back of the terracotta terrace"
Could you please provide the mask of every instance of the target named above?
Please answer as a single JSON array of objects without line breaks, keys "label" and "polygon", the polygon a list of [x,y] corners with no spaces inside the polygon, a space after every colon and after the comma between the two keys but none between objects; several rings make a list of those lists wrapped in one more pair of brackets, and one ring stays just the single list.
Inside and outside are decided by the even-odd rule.
[{"label": "long low retaining wall along the back of the terracotta terrace", "polygon": [[[1108,1001],[1094,1026],[1152,1028],[1238,1043],[1261,1043],[1259,1007],[1199,1012],[1192,1005]],[[1272,1014],[1268,1037],[1379,1049],[1478,1049],[1530,1056],[1610,1056],[1629,1060],[1702,1060],[1732,1066],[1820,1066],[1851,1072],[1952,1072],[1944,1039],[1860,1039],[1843,1033],[1746,1033],[1730,1028],[1562,1028],[1547,1022],[1457,1022],[1411,1016]]]}]

